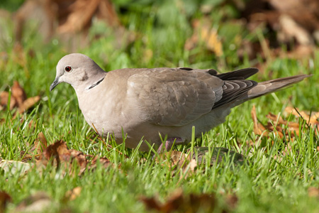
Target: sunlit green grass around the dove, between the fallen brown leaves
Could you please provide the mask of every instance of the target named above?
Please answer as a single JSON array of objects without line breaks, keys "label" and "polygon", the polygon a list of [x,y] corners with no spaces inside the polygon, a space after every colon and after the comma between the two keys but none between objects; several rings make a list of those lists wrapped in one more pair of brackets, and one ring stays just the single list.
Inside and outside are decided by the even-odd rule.
[{"label": "sunlit green grass around the dove, between the fallen brown leaves", "polygon": [[[220,33],[225,37],[225,54],[216,58],[204,46],[191,51],[184,50],[184,42],[191,36],[191,25],[187,18],[200,18],[201,14],[179,14],[176,8],[172,8],[166,12],[179,14],[180,17],[174,16],[174,21],[168,24],[164,6],[148,6],[145,11],[135,5],[132,10],[120,14],[125,27],[133,28],[140,34],[134,43],[115,49],[112,43],[116,38],[108,35],[92,41],[89,47],[78,52],[89,55],[105,70],[190,66],[216,68],[224,72],[255,65],[248,60],[240,62],[236,50],[228,48],[235,39],[230,23],[216,23],[223,28]],[[213,14],[216,17],[225,16],[218,10],[213,11]],[[8,21],[4,26],[12,37],[12,23]],[[249,34],[243,28],[235,28],[234,31],[242,33],[243,38],[258,40],[257,35]],[[40,35],[33,32],[28,39],[23,40],[25,64],[15,59],[13,43],[6,43],[1,50],[7,55],[0,61],[0,91],[8,90],[13,81],[18,80],[28,97],[39,94],[42,97],[34,109],[23,114],[24,119],[21,119],[22,115],[13,118],[12,111],[0,111],[0,119],[4,119],[0,126],[1,158],[21,160],[20,152],[30,150],[38,133],[42,131],[49,143],[63,139],[69,148],[105,156],[116,165],[121,165],[121,169],[110,167],[105,170],[98,167],[80,177],[68,173],[61,177],[60,170],[51,167],[41,173],[32,169],[25,175],[1,173],[0,190],[8,192],[13,198],[9,209],[16,207],[34,192],[45,191],[58,203],[51,212],[60,212],[62,209],[71,209],[72,212],[147,212],[139,201],[140,196],[156,195],[164,202],[174,190],[181,188],[185,194],[216,193],[221,205],[225,195],[235,193],[239,202],[234,212],[318,212],[318,198],[308,196],[308,188],[318,187],[319,184],[318,131],[305,129],[300,137],[290,142],[282,141],[274,135],[259,144],[252,131],[250,110],[255,104],[257,116],[264,123],[267,122],[265,115],[269,111],[279,114],[286,106],[319,111],[319,52],[311,59],[313,67],[309,67],[306,60],[277,58],[267,62],[268,69],[252,77],[253,80],[304,73],[314,75],[289,89],[236,107],[224,124],[206,133],[203,140],[196,141],[200,146],[225,147],[241,153],[247,156],[247,163],[235,168],[227,163],[214,163],[211,167],[201,165],[195,173],[183,178],[184,173],[172,172],[167,165],[156,163],[147,153],[135,153],[121,145],[108,151],[84,121],[72,87],[60,84],[49,92],[49,86],[55,78],[57,61],[69,52],[61,43],[35,45],[38,38]],[[34,56],[28,55],[30,50],[35,52]],[[145,50],[152,50],[150,60],[143,60]],[[272,75],[269,76],[270,70]],[[29,126],[31,121],[33,123]],[[253,141],[255,145],[247,145],[247,141]],[[287,143],[291,151],[289,155],[283,155]],[[179,150],[183,148],[177,147]],[[118,151],[124,151],[128,158],[119,155]],[[65,192],[78,186],[82,187],[81,195],[73,201],[64,201]]]}]

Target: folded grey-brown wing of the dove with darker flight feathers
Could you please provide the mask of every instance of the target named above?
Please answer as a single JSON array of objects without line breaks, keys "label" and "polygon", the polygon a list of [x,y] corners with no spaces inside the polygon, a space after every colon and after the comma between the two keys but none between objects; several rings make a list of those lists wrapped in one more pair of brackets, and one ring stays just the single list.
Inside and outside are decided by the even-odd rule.
[{"label": "folded grey-brown wing of the dove with darker flight feathers", "polygon": [[140,119],[162,126],[184,126],[254,87],[252,81],[244,79],[246,72],[218,77],[215,70],[144,69],[128,78],[128,97],[138,105]]}]

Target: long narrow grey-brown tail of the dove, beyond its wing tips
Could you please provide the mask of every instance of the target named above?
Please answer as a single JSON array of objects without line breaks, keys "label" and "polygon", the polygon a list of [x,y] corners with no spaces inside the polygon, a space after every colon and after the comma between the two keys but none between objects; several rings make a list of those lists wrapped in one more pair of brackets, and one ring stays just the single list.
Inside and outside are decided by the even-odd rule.
[{"label": "long narrow grey-brown tail of the dove, beyond its wing tips", "polygon": [[291,84],[301,82],[304,78],[310,76],[311,75],[295,75],[291,77],[282,77],[274,80],[269,80],[266,82],[259,82],[255,87],[248,91],[247,97],[245,97],[245,99],[254,99],[264,94],[276,92],[277,90],[288,87]]}]

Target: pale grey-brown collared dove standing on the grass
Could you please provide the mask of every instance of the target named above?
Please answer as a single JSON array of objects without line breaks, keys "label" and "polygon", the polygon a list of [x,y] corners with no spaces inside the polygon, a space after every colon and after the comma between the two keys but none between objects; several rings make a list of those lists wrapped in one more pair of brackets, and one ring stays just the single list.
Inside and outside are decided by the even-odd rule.
[{"label": "pale grey-brown collared dove standing on the grass", "polygon": [[[246,80],[256,68],[218,74],[216,70],[179,68],[125,68],[105,72],[86,55],[65,55],[57,63],[50,91],[60,82],[71,84],[87,123],[102,136],[135,148],[141,139],[162,148],[188,143],[225,121],[230,109],[249,99],[300,82],[296,75],[266,82]],[[140,151],[148,151],[142,143]]]}]

